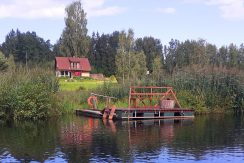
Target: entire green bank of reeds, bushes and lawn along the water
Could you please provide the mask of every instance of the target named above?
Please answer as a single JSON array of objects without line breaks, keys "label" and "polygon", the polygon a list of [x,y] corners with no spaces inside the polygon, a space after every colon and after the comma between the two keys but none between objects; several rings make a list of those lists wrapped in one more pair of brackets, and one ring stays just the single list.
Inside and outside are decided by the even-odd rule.
[{"label": "entire green bank of reeds, bushes and lawn along the water", "polygon": [[[214,77],[213,77],[214,76]],[[196,113],[229,112],[243,110],[244,88],[239,79],[231,76],[195,75],[174,76],[159,81],[57,79],[52,70],[19,68],[1,73],[0,119],[46,119],[61,113],[73,113],[78,108],[89,108],[90,93],[116,97],[116,107],[128,106],[130,85],[174,87],[183,108],[193,108]],[[98,98],[98,108],[105,107],[105,99]]]}]

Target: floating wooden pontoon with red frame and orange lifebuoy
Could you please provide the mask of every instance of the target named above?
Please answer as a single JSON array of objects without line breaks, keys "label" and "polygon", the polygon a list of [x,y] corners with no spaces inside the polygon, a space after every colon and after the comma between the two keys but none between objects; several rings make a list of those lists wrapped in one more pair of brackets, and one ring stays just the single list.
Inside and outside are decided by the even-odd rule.
[{"label": "floating wooden pontoon with red frame and orange lifebuoy", "polygon": [[[97,96],[106,98],[106,107],[102,111],[97,109]],[[92,94],[88,99],[90,108],[76,110],[76,113],[109,120],[194,118],[194,110],[181,107],[172,87],[131,86],[128,108],[111,106],[113,98]]]}]

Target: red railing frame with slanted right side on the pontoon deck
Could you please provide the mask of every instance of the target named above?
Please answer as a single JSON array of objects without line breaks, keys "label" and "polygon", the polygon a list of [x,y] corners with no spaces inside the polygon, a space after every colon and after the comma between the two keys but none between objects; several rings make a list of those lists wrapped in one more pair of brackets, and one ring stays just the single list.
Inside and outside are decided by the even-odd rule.
[{"label": "red railing frame with slanted right side on the pontoon deck", "polygon": [[[175,107],[181,108],[173,87],[131,86],[129,92],[130,108],[158,108],[159,100],[174,100]],[[148,103],[146,104],[147,101]],[[140,106],[140,103],[143,106]]]}]

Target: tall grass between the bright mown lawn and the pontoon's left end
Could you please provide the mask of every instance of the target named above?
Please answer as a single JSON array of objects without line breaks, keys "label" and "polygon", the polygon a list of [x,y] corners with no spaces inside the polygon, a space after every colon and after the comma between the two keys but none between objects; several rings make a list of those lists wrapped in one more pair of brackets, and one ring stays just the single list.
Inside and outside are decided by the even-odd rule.
[{"label": "tall grass between the bright mown lawn and the pontoon's left end", "polygon": [[[89,90],[60,91],[58,97],[62,104],[62,112],[72,113],[75,109],[90,108],[87,99],[91,96],[91,93],[115,97],[116,99],[111,100],[111,105],[115,104],[118,107],[127,107],[128,92],[129,86],[122,86],[114,82],[104,81],[103,84]],[[104,109],[106,106],[106,98],[100,96],[97,98],[98,109]]]}]

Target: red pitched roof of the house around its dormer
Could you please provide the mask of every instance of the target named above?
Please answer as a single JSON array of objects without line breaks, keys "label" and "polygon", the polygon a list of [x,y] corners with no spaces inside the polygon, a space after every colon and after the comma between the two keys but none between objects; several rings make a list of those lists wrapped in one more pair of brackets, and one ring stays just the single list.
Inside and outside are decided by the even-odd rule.
[{"label": "red pitched roof of the house around its dormer", "polygon": [[79,70],[91,71],[91,65],[88,58],[78,58],[78,57],[55,57],[56,69],[58,70],[72,70],[70,67],[71,62],[80,63]]}]

